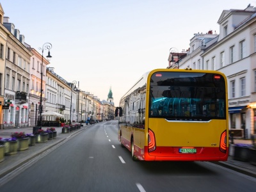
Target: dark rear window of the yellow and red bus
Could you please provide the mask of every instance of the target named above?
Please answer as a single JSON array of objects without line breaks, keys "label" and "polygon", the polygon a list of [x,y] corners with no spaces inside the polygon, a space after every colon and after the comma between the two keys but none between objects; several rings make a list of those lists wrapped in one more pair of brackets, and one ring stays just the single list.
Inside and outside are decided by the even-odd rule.
[{"label": "dark rear window of the yellow and red bus", "polygon": [[225,79],[220,74],[158,72],[150,79],[149,117],[224,119],[225,92]]}]

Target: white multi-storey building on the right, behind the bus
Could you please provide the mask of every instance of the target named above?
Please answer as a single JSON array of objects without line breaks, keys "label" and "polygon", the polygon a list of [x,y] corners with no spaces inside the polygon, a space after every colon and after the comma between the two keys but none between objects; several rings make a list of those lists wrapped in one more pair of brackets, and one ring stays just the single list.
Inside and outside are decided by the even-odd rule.
[{"label": "white multi-storey building on the right, behind the bus", "polygon": [[220,35],[195,34],[179,67],[223,72],[229,129],[241,129],[241,137],[250,138],[256,134],[256,8],[224,10],[218,24]]}]

